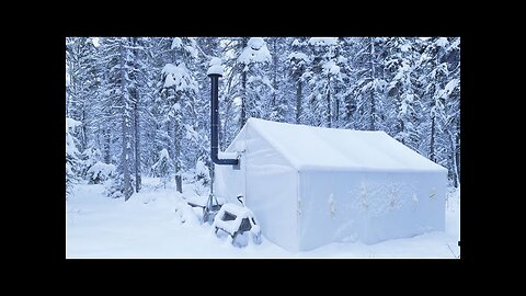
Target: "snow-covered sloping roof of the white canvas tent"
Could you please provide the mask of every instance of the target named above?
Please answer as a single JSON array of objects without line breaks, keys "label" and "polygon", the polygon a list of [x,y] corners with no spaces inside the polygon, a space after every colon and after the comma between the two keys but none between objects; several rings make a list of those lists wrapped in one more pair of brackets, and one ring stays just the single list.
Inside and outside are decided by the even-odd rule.
[{"label": "snow-covered sloping roof of the white canvas tent", "polygon": [[385,132],[323,128],[260,118],[249,118],[247,125],[300,171],[445,170]]}]

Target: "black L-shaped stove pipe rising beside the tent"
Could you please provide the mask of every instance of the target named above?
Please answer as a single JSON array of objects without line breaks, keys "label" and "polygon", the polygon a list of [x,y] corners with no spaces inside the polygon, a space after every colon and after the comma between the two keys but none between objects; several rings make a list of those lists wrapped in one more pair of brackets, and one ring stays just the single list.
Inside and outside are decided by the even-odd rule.
[{"label": "black L-shaped stove pipe rising beside the tent", "polygon": [[238,166],[239,159],[219,159],[219,73],[209,73],[211,79],[211,141],[210,141],[210,158],[216,164],[232,164]]}]

